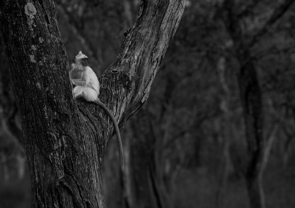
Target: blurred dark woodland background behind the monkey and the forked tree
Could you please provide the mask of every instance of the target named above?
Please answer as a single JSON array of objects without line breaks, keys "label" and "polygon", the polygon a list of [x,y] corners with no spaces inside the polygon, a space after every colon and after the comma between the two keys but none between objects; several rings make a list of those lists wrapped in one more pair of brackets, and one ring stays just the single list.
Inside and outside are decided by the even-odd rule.
[{"label": "blurred dark woodland background behind the monkey and the forked tree", "polygon": [[[69,63],[82,50],[99,76],[139,4],[55,1]],[[115,139],[107,147],[107,207],[295,206],[294,14],[290,0],[186,1],[150,98],[122,132],[126,190]],[[0,63],[0,201],[30,207],[2,51]]]}]

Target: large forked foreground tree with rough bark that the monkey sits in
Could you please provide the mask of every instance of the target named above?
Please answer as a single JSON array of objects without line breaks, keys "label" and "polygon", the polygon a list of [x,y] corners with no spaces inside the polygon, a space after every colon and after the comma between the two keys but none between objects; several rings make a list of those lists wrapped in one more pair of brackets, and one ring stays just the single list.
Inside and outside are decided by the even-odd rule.
[{"label": "large forked foreground tree with rough bark that the monkey sits in", "polygon": [[[148,98],[184,0],[142,1],[100,99],[120,129]],[[22,121],[34,207],[105,207],[102,160],[113,125],[93,103],[76,104],[53,1],[0,1],[0,40]],[[77,49],[77,52],[79,49]]]}]

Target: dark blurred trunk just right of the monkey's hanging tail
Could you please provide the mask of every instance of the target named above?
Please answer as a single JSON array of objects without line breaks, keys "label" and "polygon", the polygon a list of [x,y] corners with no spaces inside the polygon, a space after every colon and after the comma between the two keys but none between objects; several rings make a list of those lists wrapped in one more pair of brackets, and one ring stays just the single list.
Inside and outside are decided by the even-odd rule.
[{"label": "dark blurred trunk just right of the monkey's hanging tail", "polygon": [[[155,138],[151,132],[149,116],[140,112],[131,120],[133,137],[130,147],[131,189],[130,207],[144,208],[163,206],[163,199],[158,189],[155,164]],[[140,124],[140,125],[138,125]],[[139,129],[138,126],[142,128]]]}]

